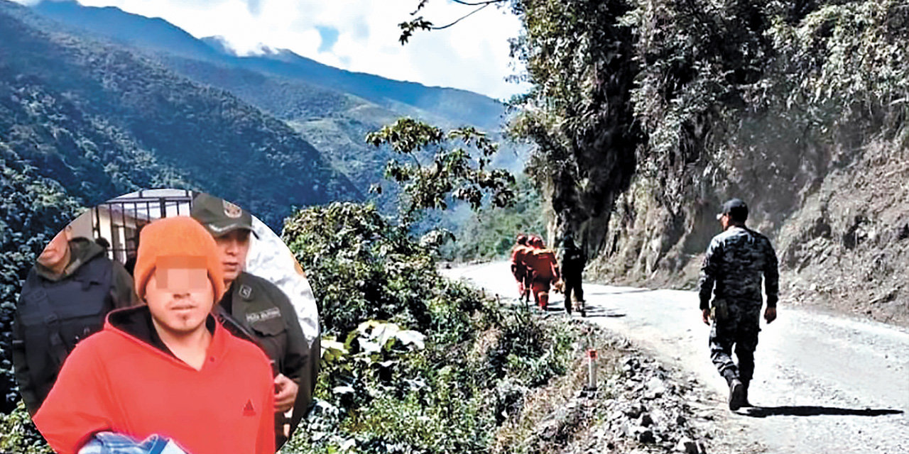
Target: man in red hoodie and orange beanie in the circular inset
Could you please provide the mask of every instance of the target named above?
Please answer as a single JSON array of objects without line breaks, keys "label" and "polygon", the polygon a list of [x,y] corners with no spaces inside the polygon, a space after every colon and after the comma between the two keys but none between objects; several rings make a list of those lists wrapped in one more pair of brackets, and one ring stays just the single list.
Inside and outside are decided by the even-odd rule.
[{"label": "man in red hoodie and orange beanie in the circular inset", "polygon": [[211,311],[224,294],[215,240],[188,216],[141,233],[135,291],[76,345],[35,426],[60,454],[112,431],[158,435],[191,454],[274,454],[272,371],[265,353]]}]

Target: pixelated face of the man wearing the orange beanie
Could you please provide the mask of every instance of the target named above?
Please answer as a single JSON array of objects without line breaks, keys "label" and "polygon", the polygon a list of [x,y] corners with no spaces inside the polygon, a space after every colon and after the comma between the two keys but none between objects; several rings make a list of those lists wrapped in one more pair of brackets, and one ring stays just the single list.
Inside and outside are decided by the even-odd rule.
[{"label": "pixelated face of the man wearing the orange beanie", "polygon": [[145,287],[145,302],[155,328],[183,336],[205,330],[205,318],[215,305],[215,289],[205,268],[159,267]]}]

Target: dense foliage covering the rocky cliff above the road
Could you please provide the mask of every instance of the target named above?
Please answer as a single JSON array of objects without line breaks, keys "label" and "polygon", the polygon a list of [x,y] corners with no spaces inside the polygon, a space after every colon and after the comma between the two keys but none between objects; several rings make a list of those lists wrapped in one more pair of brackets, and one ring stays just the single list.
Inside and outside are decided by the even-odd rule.
[{"label": "dense foliage covering the rocky cliff above the road", "polygon": [[667,223],[698,222],[729,186],[785,212],[794,198],[778,188],[823,172],[818,147],[905,131],[901,0],[509,4],[524,23],[514,79],[533,84],[511,131],[536,147],[528,170],[558,230],[594,251],[634,175]]}]

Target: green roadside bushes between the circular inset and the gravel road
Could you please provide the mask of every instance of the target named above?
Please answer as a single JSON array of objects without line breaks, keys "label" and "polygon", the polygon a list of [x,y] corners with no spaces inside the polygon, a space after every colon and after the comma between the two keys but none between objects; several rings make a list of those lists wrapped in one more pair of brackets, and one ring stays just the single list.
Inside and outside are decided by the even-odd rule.
[{"label": "green roadside bushes between the circular inset and the gravel road", "polygon": [[491,452],[524,395],[574,360],[576,332],[443,279],[370,205],[298,212],[283,236],[328,335],[322,401],[284,452]]}]

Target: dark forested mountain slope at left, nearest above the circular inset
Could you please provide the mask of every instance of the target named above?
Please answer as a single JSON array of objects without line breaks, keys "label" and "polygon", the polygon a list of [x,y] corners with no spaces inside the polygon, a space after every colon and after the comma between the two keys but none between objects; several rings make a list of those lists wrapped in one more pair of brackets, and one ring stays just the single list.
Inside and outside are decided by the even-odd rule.
[{"label": "dark forested mountain slope at left, nearest above the circular inset", "polygon": [[277,229],[292,205],[361,197],[284,122],[54,29],[0,2],[0,142],[85,204],[178,184],[239,202]]}]

